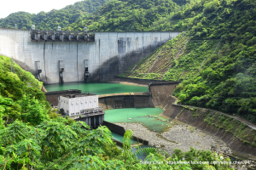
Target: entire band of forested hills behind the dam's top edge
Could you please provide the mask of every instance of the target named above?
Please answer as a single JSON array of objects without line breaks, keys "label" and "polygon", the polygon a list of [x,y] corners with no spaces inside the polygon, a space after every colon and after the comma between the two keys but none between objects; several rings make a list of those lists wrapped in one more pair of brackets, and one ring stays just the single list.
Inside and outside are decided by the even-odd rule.
[{"label": "entire band of forested hills behind the dam's top edge", "polygon": [[0,27],[40,30],[146,31],[157,20],[195,0],[84,0],[61,10],[29,14],[17,12],[0,19]]}]

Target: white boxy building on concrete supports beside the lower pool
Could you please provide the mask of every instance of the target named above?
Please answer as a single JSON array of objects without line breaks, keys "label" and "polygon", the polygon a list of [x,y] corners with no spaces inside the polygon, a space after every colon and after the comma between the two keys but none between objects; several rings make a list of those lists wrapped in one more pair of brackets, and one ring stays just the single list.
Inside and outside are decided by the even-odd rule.
[{"label": "white boxy building on concrete supports beside the lower pool", "polygon": [[58,109],[74,120],[83,121],[90,127],[98,127],[104,121],[103,107],[98,106],[96,94],[67,94],[60,96]]}]

